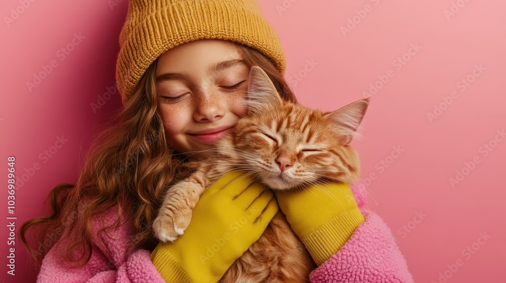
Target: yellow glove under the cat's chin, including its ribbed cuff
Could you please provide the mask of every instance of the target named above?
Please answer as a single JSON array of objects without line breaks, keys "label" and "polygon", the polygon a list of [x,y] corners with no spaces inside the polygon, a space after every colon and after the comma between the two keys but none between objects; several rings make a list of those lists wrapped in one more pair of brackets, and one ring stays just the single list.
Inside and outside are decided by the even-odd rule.
[{"label": "yellow glove under the cat's chin, including its ribbed cuff", "polygon": [[346,183],[276,190],[275,194],[286,220],[318,266],[338,252],[365,221]]}]

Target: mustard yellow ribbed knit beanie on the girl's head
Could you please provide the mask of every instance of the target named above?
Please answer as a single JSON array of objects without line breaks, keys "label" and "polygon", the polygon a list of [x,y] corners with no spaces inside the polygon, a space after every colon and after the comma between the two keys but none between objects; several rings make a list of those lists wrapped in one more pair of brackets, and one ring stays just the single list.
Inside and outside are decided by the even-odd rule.
[{"label": "mustard yellow ribbed knit beanie on the girl's head", "polygon": [[284,73],[281,43],[256,0],[130,0],[116,62],[123,104],[161,54],[204,38],[226,39],[255,48]]}]

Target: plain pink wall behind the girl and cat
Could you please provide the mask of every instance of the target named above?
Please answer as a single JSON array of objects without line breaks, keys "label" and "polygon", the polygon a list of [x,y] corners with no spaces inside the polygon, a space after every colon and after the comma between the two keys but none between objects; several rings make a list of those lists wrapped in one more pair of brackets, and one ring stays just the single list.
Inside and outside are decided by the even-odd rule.
[{"label": "plain pink wall behind the girl and cat", "polygon": [[[112,8],[104,0],[25,2],[26,9],[18,8],[19,0],[5,0],[0,8],[0,160],[8,168],[7,157],[16,157],[17,230],[47,212],[44,201],[51,188],[76,181],[88,141],[121,105],[117,93],[109,98],[104,92],[114,85],[117,38],[127,7],[121,0]],[[369,206],[391,227],[415,281],[504,281],[506,237],[499,215],[506,214],[506,140],[495,138],[506,127],[506,2],[291,2],[262,0],[260,5],[281,38],[286,78],[297,82],[293,88],[301,103],[333,110],[362,99],[371,84],[379,87],[362,124],[363,138],[353,145],[361,155]],[[452,4],[456,13],[445,15]],[[6,23],[11,9],[22,13]],[[349,31],[343,31],[348,24]],[[58,51],[74,33],[81,41],[74,40],[78,44],[69,45],[73,50],[63,57]],[[421,48],[415,51],[411,44]],[[26,82],[52,60],[56,67],[29,90]],[[317,65],[306,66],[308,61]],[[475,65],[482,70],[472,75]],[[464,89],[462,79],[473,82]],[[109,99],[94,113],[90,104],[99,96]],[[437,116],[435,106],[441,109]],[[44,158],[61,135],[68,141]],[[484,144],[494,148],[485,150]],[[402,150],[400,155],[392,153],[393,147]],[[30,169],[34,162],[37,170]],[[462,169],[465,162],[472,170]],[[457,170],[466,176],[452,185]],[[2,171],[4,217],[10,215],[7,170]],[[23,174],[27,180],[21,186]],[[18,238],[16,276],[7,275],[7,220],[1,221],[0,278],[34,281],[35,270]],[[480,233],[490,238],[479,240]],[[468,247],[472,253],[465,251]]]}]

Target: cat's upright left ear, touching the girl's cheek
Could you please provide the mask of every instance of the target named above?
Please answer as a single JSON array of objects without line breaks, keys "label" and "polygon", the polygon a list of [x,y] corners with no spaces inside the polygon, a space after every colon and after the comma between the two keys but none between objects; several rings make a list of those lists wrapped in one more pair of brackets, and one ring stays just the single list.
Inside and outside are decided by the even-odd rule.
[{"label": "cat's upright left ear, touching the girl's cheek", "polygon": [[268,111],[281,106],[276,87],[262,68],[252,66],[249,71],[248,93],[244,101],[249,113]]}]

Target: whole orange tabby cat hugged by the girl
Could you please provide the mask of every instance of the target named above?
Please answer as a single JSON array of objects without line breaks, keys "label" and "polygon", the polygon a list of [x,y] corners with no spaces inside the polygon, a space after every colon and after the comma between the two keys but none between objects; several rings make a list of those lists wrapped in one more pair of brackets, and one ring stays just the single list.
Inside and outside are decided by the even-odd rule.
[{"label": "whole orange tabby cat hugged by the girl", "polygon": [[[226,172],[249,171],[273,190],[327,181],[353,183],[360,164],[348,144],[357,135],[368,102],[360,100],[329,113],[284,102],[267,74],[252,67],[245,102],[248,114],[219,141],[216,152],[193,161],[198,169],[192,175],[167,191],[153,223],[156,237],[163,242],[177,239],[188,227],[202,192]],[[314,268],[279,211],[220,282],[308,282]]]}]

